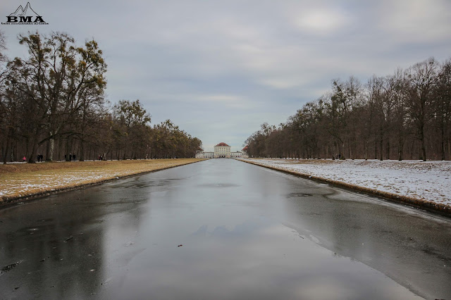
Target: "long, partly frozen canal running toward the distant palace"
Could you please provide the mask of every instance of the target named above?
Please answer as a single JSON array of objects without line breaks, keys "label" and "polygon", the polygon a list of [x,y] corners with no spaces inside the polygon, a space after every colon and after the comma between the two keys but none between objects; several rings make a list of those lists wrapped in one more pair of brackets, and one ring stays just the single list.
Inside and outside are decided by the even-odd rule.
[{"label": "long, partly frozen canal running toward the distant palace", "polygon": [[231,159],[0,210],[1,299],[451,299],[451,222]]}]

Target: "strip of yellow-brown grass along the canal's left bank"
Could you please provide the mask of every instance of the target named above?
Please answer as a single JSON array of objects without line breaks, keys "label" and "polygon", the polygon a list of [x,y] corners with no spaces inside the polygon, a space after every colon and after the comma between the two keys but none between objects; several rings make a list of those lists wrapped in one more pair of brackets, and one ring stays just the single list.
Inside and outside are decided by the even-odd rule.
[{"label": "strip of yellow-brown grass along the canal's left bank", "polygon": [[202,161],[198,158],[0,165],[0,204]]}]

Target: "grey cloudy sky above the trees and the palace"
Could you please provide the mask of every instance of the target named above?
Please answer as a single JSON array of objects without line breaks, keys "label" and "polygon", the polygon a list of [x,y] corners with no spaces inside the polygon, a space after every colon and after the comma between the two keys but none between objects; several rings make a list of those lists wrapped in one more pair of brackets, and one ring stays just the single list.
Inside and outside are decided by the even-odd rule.
[{"label": "grey cloudy sky above the trees and the palace", "polygon": [[[2,0],[1,22],[26,0]],[[451,58],[450,0],[32,0],[49,25],[0,25],[8,56],[17,35],[67,32],[96,39],[109,101],[140,99],[152,123],[171,119],[206,151],[233,151],[268,122],[350,75],[362,82],[434,56]]]}]

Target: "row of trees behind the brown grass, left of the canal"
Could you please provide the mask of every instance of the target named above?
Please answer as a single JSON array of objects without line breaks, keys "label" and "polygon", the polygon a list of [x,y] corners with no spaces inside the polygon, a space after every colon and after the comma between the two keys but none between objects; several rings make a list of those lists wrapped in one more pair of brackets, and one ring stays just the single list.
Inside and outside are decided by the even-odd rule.
[{"label": "row of trees behind the brown grass, left of the canal", "polygon": [[106,63],[96,41],[61,32],[19,35],[28,56],[9,60],[0,32],[0,158],[29,163],[102,158],[193,157],[196,137],[166,120],[151,127],[139,100],[110,106]]}]

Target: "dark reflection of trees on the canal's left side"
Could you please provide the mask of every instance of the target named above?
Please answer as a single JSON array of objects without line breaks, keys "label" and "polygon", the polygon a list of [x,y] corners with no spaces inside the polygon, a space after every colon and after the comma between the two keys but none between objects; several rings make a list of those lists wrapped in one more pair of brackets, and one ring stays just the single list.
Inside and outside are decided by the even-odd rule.
[{"label": "dark reflection of trees on the canal's left side", "polygon": [[61,194],[62,201],[41,200],[2,212],[0,268],[23,263],[0,278],[0,294],[14,287],[20,288],[13,295],[23,297],[97,294],[105,280],[105,215],[130,213],[123,224],[137,228],[142,213],[139,189],[126,189],[128,201],[118,200],[115,189],[101,193],[97,189],[101,187]]}]

